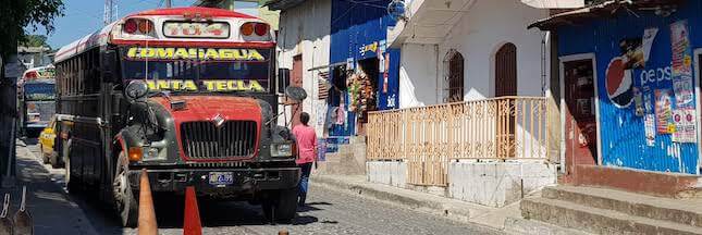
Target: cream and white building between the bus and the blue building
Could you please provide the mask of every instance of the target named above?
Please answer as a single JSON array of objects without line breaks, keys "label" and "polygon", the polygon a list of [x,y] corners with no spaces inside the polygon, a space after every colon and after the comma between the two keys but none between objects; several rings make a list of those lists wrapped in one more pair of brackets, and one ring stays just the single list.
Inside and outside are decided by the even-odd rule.
[{"label": "cream and white building between the bus and the blue building", "polygon": [[324,90],[320,90],[319,84],[325,82],[325,74],[329,72],[332,1],[273,1],[269,8],[281,10],[279,67],[290,69],[291,83],[301,84],[307,91],[308,98],[301,110],[310,114],[310,125],[316,127],[317,135],[323,136],[327,102],[323,99]]}]

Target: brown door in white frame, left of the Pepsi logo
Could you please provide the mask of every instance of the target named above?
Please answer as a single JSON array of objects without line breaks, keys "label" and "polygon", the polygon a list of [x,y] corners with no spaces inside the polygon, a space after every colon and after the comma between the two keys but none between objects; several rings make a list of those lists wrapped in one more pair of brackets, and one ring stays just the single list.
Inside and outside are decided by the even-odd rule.
[{"label": "brown door in white frame, left of the Pepsi logo", "polygon": [[592,59],[562,63],[564,72],[566,171],[598,163],[594,66]]}]

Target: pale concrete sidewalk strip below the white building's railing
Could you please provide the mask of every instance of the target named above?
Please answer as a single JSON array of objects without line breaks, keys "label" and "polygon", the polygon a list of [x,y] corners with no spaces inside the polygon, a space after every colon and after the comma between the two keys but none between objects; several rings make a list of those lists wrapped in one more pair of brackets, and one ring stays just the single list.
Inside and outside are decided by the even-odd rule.
[{"label": "pale concrete sidewalk strip below the white building's railing", "polygon": [[[583,234],[537,221],[521,219],[519,202],[503,208],[492,208],[436,195],[370,183],[365,175],[312,174],[312,184],[357,194],[361,197],[408,207],[414,210],[444,215],[448,219],[472,223],[507,234]],[[528,197],[539,197],[529,195]]]}]

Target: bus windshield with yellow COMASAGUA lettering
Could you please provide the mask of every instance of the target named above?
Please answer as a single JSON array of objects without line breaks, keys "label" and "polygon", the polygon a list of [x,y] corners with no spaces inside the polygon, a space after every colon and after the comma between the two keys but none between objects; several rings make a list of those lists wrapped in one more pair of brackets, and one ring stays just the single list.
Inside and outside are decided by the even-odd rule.
[{"label": "bus windshield with yellow COMASAGUA lettering", "polygon": [[122,49],[125,82],[146,79],[149,89],[177,91],[269,91],[271,49]]}]

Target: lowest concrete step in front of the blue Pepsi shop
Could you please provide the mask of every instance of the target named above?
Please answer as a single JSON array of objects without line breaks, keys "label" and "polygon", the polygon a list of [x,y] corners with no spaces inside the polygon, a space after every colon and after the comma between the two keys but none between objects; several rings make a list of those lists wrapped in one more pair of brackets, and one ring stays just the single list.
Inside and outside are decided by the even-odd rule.
[{"label": "lowest concrete step in front of the blue Pepsi shop", "polygon": [[702,234],[698,226],[543,197],[524,199],[520,206],[525,219],[595,234]]}]

